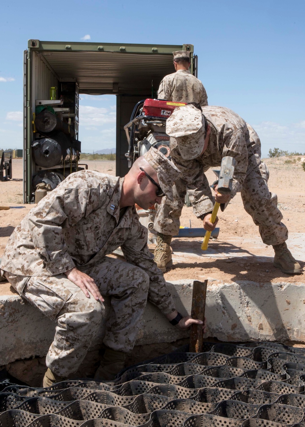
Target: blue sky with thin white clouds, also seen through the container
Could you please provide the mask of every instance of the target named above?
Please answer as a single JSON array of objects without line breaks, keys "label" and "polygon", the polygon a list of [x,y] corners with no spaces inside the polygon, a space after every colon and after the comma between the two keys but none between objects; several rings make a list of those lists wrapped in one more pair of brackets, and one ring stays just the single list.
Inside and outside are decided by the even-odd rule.
[{"label": "blue sky with thin white clouds, also seen through the container", "polygon": [[[305,152],[305,2],[10,1],[1,6],[0,148],[23,148],[28,39],[194,44],[209,105],[231,108],[269,149]],[[174,71],[174,70],[173,70]],[[80,96],[82,151],[115,147],[115,96]]]}]

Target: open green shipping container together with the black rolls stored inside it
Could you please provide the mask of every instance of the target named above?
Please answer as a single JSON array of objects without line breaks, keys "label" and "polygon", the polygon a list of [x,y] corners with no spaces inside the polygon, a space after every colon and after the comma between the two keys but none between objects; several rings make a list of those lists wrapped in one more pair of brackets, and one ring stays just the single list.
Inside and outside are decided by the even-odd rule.
[{"label": "open green shipping container together with the black rolls stored inside it", "polygon": [[116,95],[116,175],[124,176],[128,172],[124,125],[135,104],[155,98],[161,79],[174,72],[176,50],[190,52],[190,70],[196,75],[192,44],[29,40],[23,61],[23,202],[34,202],[42,176],[57,185],[84,167],[78,161],[80,150],[86,151],[86,140],[82,146],[78,140],[80,94]]}]

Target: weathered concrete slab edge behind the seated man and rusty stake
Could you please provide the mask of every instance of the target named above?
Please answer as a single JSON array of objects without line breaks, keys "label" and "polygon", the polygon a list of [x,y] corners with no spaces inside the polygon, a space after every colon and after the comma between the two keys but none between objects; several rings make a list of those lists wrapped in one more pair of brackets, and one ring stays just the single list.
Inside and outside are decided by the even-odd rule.
[{"label": "weathered concrete slab edge behind the seated man and rusty stake", "polygon": [[[177,310],[191,313],[193,280],[167,282]],[[221,341],[305,342],[305,284],[224,283],[210,278],[205,316],[207,333]],[[101,345],[106,316],[93,345]],[[56,324],[18,295],[0,296],[0,366],[15,360],[44,356],[53,341]],[[161,312],[148,303],[136,345],[173,342],[188,336],[169,324]]]}]

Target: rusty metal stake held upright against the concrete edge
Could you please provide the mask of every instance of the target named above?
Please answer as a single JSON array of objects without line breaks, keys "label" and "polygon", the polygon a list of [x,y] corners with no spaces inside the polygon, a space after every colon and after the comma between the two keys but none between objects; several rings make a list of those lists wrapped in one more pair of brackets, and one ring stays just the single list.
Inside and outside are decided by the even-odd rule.
[{"label": "rusty metal stake held upright against the concrete edge", "polygon": [[[205,298],[206,298],[207,286],[208,286],[207,280],[205,280],[204,282],[194,280],[193,282],[193,298],[192,298],[191,316],[193,319],[202,320],[202,322],[204,321]],[[201,353],[202,342],[203,342],[202,325],[194,325],[194,324],[191,325],[190,352]]]}]

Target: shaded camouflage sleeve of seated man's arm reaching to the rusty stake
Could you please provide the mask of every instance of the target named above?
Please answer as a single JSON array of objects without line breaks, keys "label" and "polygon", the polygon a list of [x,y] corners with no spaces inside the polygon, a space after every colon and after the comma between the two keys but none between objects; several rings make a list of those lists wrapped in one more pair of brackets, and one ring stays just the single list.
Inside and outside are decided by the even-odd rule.
[{"label": "shaded camouflage sleeve of seated man's arm reaching to the rusty stake", "polygon": [[147,229],[140,224],[138,214],[133,213],[128,238],[121,246],[128,263],[143,269],[150,277],[148,300],[166,315],[175,310],[173,298],[167,289],[163,274],[153,260],[147,246]]}]

